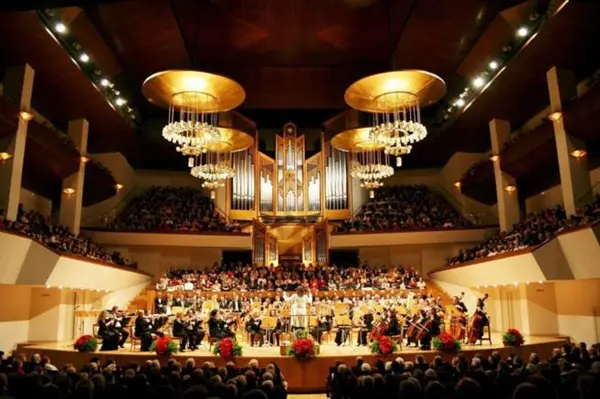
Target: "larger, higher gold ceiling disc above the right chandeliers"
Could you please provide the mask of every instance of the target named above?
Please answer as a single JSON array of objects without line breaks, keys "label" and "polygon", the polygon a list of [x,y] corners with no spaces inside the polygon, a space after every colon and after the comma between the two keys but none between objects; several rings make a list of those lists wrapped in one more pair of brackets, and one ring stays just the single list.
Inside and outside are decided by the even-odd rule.
[{"label": "larger, higher gold ceiling disc above the right chandeliers", "polygon": [[344,100],[350,107],[363,112],[385,112],[392,107],[376,101],[384,94],[395,93],[396,102],[414,103],[418,98],[420,107],[439,101],[446,94],[446,83],[431,72],[416,69],[392,71],[367,76],[350,85]]}]

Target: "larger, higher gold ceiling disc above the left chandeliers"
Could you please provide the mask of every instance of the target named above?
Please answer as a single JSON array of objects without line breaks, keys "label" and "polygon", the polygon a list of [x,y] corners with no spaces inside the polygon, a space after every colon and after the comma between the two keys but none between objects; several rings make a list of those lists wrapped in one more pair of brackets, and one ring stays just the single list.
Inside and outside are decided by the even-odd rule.
[{"label": "larger, higher gold ceiling disc above the left chandeliers", "polygon": [[208,72],[162,71],[149,76],[142,84],[144,97],[162,108],[169,108],[171,99],[175,107],[181,106],[186,99],[197,96],[197,93],[204,93],[215,99],[199,105],[199,110],[205,112],[229,111],[246,99],[244,88],[235,80]]}]

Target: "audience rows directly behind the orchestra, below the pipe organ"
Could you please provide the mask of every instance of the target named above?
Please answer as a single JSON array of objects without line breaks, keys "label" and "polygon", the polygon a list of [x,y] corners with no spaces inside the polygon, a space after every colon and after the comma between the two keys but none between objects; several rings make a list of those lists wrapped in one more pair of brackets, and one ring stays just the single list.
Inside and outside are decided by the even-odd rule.
[{"label": "audience rows directly behind the orchestra, below the pipe organ", "polygon": [[374,269],[368,265],[339,268],[278,267],[257,269],[250,265],[215,264],[208,270],[171,270],[157,284],[159,291],[292,291],[305,286],[312,291],[387,290],[425,288],[419,272],[402,266]]}]

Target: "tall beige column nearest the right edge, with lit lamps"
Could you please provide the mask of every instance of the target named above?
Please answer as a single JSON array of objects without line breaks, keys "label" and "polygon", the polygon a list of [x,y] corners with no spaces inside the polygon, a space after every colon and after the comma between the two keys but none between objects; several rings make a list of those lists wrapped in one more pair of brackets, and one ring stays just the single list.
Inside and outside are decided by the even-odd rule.
[{"label": "tall beige column nearest the right edge, with lit lamps", "polygon": [[570,71],[552,67],[546,73],[550,96],[550,119],[554,126],[554,141],[560,170],[560,186],[567,215],[577,207],[593,201],[592,184],[587,166],[585,144],[568,134],[562,117],[563,104],[577,94],[575,76]]}]

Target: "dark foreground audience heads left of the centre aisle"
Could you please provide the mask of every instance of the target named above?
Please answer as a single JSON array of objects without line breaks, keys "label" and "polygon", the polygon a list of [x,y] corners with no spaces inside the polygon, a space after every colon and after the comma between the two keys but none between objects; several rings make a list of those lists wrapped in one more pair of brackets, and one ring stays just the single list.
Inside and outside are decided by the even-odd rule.
[{"label": "dark foreground audience heads left of the centre aisle", "polygon": [[171,358],[138,364],[116,364],[95,357],[88,364],[55,366],[45,356],[24,355],[0,359],[0,397],[35,398],[265,398],[285,399],[287,382],[276,363],[261,368],[253,359],[247,365],[212,362],[196,365],[193,358],[179,363]]}]

